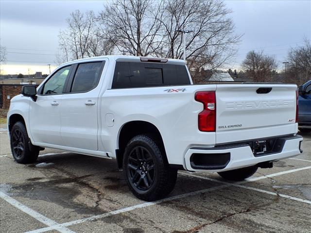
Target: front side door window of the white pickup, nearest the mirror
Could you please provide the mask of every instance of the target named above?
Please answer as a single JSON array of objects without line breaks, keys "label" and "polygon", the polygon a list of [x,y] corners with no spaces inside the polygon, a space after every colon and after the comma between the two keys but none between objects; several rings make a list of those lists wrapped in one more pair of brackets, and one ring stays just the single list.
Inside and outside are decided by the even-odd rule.
[{"label": "front side door window of the white pickup, nearest the mirror", "polygon": [[54,73],[53,76],[44,84],[42,94],[51,95],[63,93],[69,70],[70,66],[61,68],[56,73]]}]

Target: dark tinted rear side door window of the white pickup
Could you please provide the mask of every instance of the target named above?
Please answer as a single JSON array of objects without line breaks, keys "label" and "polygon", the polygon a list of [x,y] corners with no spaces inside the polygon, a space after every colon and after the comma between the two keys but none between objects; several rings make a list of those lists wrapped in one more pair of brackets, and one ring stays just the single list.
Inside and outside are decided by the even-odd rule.
[{"label": "dark tinted rear side door window of the white pickup", "polygon": [[87,92],[97,86],[102,73],[103,62],[79,64],[75,73],[71,92]]}]

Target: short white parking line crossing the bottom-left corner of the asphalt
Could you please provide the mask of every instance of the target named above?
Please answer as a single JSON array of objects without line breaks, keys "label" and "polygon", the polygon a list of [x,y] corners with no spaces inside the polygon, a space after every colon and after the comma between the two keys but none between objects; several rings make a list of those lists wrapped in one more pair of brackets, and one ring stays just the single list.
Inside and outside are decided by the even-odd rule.
[{"label": "short white parking line crossing the bottom-left corner of the asphalt", "polygon": [[43,215],[39,214],[38,212],[36,212],[35,210],[33,210],[33,209],[23,205],[22,203],[20,203],[19,201],[15,200],[14,198],[9,197],[8,195],[6,195],[2,191],[0,191],[0,198],[5,200],[6,202],[10,203],[11,205],[16,207],[17,209],[21,210],[25,214],[27,214],[29,216],[32,216],[33,218],[35,218],[39,222],[42,222],[43,224],[45,224],[47,226],[53,227],[54,230],[57,230],[57,231],[59,231],[61,233],[75,233],[75,232],[69,230],[68,228],[60,226],[59,223],[53,221],[52,219],[50,219],[50,218],[48,218],[46,216],[43,216]]}]

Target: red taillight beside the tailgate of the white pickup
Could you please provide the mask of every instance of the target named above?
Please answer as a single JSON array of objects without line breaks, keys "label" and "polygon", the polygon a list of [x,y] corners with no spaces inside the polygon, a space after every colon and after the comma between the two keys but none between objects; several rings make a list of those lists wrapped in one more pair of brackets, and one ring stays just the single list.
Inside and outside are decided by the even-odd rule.
[{"label": "red taillight beside the tailgate of the white pickup", "polygon": [[196,101],[203,103],[203,111],[198,116],[200,131],[216,131],[216,95],[215,91],[199,91],[195,93]]}]

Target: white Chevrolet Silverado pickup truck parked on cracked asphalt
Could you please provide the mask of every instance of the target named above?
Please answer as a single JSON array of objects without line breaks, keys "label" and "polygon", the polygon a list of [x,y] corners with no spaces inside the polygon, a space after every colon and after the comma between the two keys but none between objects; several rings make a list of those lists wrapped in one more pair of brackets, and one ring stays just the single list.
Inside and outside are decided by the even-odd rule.
[{"label": "white Chevrolet Silverado pickup truck parked on cracked asphalt", "polygon": [[142,200],[168,195],[177,170],[243,180],[296,156],[296,85],[193,85],[181,60],[102,56],[65,63],[11,100],[8,129],[17,163],[55,148],[123,167]]}]

